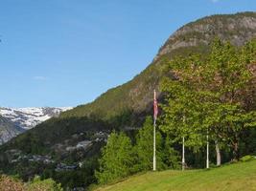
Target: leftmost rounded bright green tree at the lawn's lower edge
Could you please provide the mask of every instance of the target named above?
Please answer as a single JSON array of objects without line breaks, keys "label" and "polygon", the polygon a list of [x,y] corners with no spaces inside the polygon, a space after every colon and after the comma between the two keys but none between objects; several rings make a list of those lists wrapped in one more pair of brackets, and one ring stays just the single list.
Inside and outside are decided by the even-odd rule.
[{"label": "leftmost rounded bright green tree at the lawn's lower edge", "polygon": [[130,139],[124,133],[113,132],[107,139],[95,176],[99,183],[127,177],[132,173],[134,155]]}]

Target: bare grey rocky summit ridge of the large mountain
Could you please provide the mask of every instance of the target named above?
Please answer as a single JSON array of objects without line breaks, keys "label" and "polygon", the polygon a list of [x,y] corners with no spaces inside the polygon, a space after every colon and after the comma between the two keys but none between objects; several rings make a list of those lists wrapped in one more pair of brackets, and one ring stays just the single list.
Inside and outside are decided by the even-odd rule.
[{"label": "bare grey rocky summit ridge of the large mountain", "polygon": [[217,35],[223,41],[230,41],[233,45],[242,46],[244,42],[255,36],[255,33],[255,12],[207,16],[181,27],[172,34],[154,60],[161,55],[173,52],[175,49],[199,45],[207,46]]}]

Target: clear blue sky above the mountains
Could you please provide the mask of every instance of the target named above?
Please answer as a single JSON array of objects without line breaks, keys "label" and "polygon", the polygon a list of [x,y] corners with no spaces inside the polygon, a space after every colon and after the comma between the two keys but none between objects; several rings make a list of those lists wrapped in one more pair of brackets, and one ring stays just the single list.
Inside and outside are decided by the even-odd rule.
[{"label": "clear blue sky above the mountains", "polygon": [[127,82],[182,25],[255,0],[6,0],[0,106],[76,106]]}]

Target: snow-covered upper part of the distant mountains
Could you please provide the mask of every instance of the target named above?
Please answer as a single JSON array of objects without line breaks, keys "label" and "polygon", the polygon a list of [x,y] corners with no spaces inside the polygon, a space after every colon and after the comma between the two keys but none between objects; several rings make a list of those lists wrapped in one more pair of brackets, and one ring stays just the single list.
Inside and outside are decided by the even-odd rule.
[{"label": "snow-covered upper part of the distant mountains", "polygon": [[31,108],[4,108],[0,107],[0,116],[11,120],[14,125],[28,130],[35,125],[51,118],[58,117],[61,112],[72,109],[71,107],[31,107]]}]

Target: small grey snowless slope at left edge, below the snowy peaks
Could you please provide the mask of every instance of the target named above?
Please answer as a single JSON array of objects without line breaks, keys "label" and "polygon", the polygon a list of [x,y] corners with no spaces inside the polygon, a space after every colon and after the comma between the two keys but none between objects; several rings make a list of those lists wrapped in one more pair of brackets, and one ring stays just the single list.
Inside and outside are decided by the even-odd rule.
[{"label": "small grey snowless slope at left edge, below the snowy peaks", "polygon": [[12,121],[0,116],[0,145],[23,132],[24,130],[14,125]]}]

